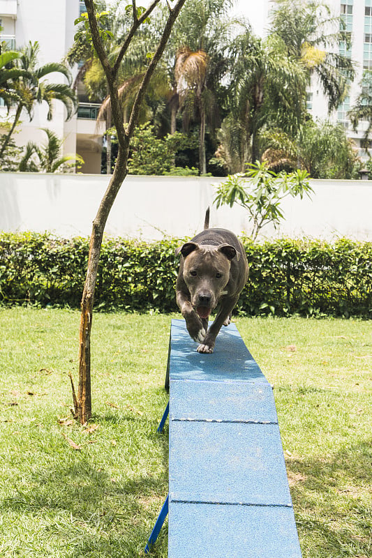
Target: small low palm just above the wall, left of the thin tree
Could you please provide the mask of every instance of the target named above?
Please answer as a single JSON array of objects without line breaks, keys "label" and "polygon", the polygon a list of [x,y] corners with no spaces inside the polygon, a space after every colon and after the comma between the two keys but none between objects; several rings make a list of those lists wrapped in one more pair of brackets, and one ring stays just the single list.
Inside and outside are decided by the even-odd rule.
[{"label": "small low palm just above the wall, left of the thin tree", "polygon": [[80,155],[62,155],[63,140],[48,128],[41,128],[47,135],[47,143],[39,146],[28,142],[20,160],[18,170],[22,172],[66,172],[68,169],[84,165]]}]

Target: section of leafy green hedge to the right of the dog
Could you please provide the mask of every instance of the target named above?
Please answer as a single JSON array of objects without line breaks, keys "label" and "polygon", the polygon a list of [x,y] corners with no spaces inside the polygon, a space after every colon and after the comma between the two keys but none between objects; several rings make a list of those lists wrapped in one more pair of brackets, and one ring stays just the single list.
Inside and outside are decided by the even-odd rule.
[{"label": "section of leafy green hedge to the right of the dog", "polygon": [[372,317],[372,243],[245,239],[248,315]]}]

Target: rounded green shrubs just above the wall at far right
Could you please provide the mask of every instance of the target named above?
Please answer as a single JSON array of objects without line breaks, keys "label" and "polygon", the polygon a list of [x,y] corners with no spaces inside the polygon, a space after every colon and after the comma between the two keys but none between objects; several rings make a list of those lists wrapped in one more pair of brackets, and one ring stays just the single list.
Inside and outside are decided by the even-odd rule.
[{"label": "rounded green shrubs just above the wall at far right", "polygon": [[266,130],[262,155],[270,169],[301,167],[313,179],[350,179],[357,152],[341,124],[307,121],[294,138],[283,130]]}]

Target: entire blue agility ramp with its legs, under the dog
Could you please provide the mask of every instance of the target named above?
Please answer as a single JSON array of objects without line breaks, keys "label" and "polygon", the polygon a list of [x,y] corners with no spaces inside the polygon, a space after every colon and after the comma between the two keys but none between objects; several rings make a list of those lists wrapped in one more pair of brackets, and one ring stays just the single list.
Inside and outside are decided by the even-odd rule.
[{"label": "entire blue agility ramp with its legs, under the dog", "polygon": [[169,558],[301,558],[272,388],[235,325],[199,354],[172,320],[168,384],[169,495],[149,545],[168,512]]}]

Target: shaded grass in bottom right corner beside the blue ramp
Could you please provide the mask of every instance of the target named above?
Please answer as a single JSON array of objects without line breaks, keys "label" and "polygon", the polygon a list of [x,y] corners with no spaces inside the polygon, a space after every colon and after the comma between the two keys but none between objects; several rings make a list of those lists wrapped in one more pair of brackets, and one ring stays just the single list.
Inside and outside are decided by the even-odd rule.
[{"label": "shaded grass in bottom right corner beside the blue ramp", "polygon": [[371,556],[372,439],[286,465],[303,557]]}]

